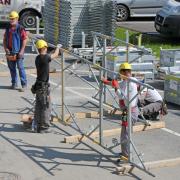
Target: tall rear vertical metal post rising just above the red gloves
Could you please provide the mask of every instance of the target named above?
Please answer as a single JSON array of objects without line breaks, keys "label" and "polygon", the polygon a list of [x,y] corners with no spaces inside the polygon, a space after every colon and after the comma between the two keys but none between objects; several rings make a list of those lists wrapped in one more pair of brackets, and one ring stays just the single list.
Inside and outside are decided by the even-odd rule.
[{"label": "tall rear vertical metal post rising just above the red gloves", "polygon": [[[103,42],[103,59],[102,59],[102,66],[104,68],[107,67],[107,58],[106,58],[106,47],[107,47],[107,39],[104,38],[104,42]],[[107,79],[107,72],[104,71],[103,73],[103,76]],[[104,85],[104,103],[107,102],[107,99],[106,99],[106,86]]]}]

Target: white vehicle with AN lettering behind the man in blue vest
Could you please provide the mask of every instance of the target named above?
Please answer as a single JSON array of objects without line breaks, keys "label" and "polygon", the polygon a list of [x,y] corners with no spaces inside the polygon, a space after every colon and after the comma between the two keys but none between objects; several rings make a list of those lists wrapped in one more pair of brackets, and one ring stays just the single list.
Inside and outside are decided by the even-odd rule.
[{"label": "white vehicle with AN lettering behind the man in blue vest", "polygon": [[36,27],[36,17],[42,18],[45,0],[0,0],[0,22],[9,21],[9,13],[17,11],[25,28]]}]

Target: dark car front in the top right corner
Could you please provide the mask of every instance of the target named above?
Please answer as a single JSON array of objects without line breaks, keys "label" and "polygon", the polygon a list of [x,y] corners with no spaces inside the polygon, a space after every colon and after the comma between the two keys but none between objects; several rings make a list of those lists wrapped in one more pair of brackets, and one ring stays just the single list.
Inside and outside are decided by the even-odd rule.
[{"label": "dark car front in the top right corner", "polygon": [[169,0],[156,14],[155,29],[166,37],[180,37],[180,0]]}]

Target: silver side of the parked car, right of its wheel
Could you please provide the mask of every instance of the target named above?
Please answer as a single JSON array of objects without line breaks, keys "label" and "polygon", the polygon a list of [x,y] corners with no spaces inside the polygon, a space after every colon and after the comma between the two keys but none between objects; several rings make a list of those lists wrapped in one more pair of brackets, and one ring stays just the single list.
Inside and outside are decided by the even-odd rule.
[{"label": "silver side of the parked car, right of its wheel", "polygon": [[131,12],[134,16],[155,16],[167,0],[133,0]]}]

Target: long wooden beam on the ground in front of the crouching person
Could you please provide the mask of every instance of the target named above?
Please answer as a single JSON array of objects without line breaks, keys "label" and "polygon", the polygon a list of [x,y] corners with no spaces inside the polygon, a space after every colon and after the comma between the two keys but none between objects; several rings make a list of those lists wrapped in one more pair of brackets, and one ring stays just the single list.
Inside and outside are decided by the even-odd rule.
[{"label": "long wooden beam on the ground in front of the crouching person", "polygon": [[[165,127],[165,122],[164,121],[158,121],[158,122],[150,122],[151,126],[145,126],[144,124],[140,125],[135,125],[133,126],[133,132],[141,132],[141,131],[148,131],[152,129],[160,129]],[[116,129],[110,129],[110,130],[104,130],[103,131],[103,136],[108,137],[108,136],[114,136],[114,135],[120,135],[121,133],[121,128],[116,128]],[[99,132],[94,132],[90,136],[91,138],[98,138],[99,137]],[[64,138],[65,143],[74,143],[74,142],[79,142],[80,140],[85,141],[87,138],[82,135],[73,135],[73,136],[67,136]]]}]

